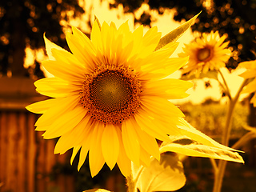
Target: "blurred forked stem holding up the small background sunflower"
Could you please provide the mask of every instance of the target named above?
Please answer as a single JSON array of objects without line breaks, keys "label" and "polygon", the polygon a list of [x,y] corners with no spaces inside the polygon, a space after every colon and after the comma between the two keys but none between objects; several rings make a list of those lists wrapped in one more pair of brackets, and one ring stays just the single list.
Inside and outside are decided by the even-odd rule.
[{"label": "blurred forked stem holding up the small background sunflower", "polygon": [[[222,75],[222,73],[220,73],[220,74]],[[223,76],[222,76],[222,78],[224,81]],[[226,81],[224,81],[224,83],[225,82]],[[238,102],[238,98],[241,94],[242,88],[244,86],[246,86],[247,82],[248,82],[247,80],[244,80],[244,82],[242,82],[242,85],[240,86],[240,88],[234,98],[231,98],[231,96],[230,96],[229,108],[228,108],[228,112],[227,112],[227,116],[226,116],[226,124],[225,124],[225,128],[224,128],[224,132],[222,134],[222,144],[224,146],[229,145],[230,132],[231,132],[231,128],[232,128],[232,119],[233,119],[233,114],[234,114],[234,107],[235,107],[236,103]],[[227,87],[227,85],[226,85],[226,87]],[[230,92],[229,92],[229,95],[230,95]],[[222,190],[222,182],[223,182],[223,177],[224,177],[225,170],[226,170],[226,161],[220,160],[219,164],[218,164],[218,169],[215,168],[214,170],[215,170],[215,172],[214,172],[214,190],[213,190],[213,192],[220,192]]]}]

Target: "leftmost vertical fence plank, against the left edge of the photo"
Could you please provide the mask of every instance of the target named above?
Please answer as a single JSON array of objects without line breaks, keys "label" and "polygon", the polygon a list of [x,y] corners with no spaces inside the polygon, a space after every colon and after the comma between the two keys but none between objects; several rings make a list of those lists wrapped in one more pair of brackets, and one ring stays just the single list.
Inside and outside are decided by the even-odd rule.
[{"label": "leftmost vertical fence plank, against the left edge of the photo", "polygon": [[6,190],[6,157],[7,157],[7,114],[0,112],[0,189]]}]

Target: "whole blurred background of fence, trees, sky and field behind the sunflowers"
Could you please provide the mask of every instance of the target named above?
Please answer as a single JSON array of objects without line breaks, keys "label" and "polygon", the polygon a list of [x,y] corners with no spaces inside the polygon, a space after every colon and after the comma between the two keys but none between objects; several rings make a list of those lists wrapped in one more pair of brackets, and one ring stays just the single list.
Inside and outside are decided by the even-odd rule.
[{"label": "whole blurred background of fence, trees, sky and field behind the sunflowers", "polygon": [[[100,22],[117,26],[129,21],[134,30],[158,26],[162,35],[178,27],[202,10],[194,26],[178,40],[181,44],[195,34],[218,30],[228,34],[233,56],[226,63],[234,70],[239,62],[255,59],[256,0],[6,0],[0,2],[0,191],[82,191],[95,187],[126,191],[118,168],[107,167],[90,177],[88,160],[80,172],[78,158],[70,166],[70,152],[54,154],[57,140],[43,140],[34,131],[38,115],[25,110],[32,102],[46,97],[34,90],[34,81],[50,76],[40,63],[47,59],[43,33],[50,41],[68,50],[65,40],[70,26],[90,36],[96,15]],[[179,73],[174,77],[179,77]],[[230,79],[232,77],[230,76]],[[237,76],[233,77],[239,79]],[[233,80],[234,80],[233,79]],[[232,82],[232,79],[230,80]],[[237,85],[234,82],[234,89]],[[225,123],[225,95],[210,79],[195,82],[191,96],[177,103],[186,119],[205,134],[219,141]],[[199,96],[198,96],[199,95]],[[242,125],[256,126],[255,109],[246,96],[234,114],[231,142],[246,133]],[[221,102],[219,102],[221,101]],[[224,103],[224,104],[223,104]],[[256,141],[241,150],[245,165],[229,162],[222,191],[256,191]],[[214,172],[207,158],[186,158],[183,162],[186,186],[178,191],[211,191]]]}]

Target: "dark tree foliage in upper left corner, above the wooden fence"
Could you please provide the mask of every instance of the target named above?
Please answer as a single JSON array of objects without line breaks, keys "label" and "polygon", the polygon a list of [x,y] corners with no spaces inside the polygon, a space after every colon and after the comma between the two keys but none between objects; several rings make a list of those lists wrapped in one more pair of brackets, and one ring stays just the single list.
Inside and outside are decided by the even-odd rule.
[{"label": "dark tree foliage in upper left corner, above the wooden fence", "polygon": [[[69,14],[67,14],[69,13]],[[0,74],[11,71],[14,76],[26,76],[23,67],[26,46],[44,46],[43,33],[51,41],[65,46],[61,20],[69,20],[84,13],[78,0],[5,0],[0,2]],[[35,61],[34,72],[40,73]]]}]

